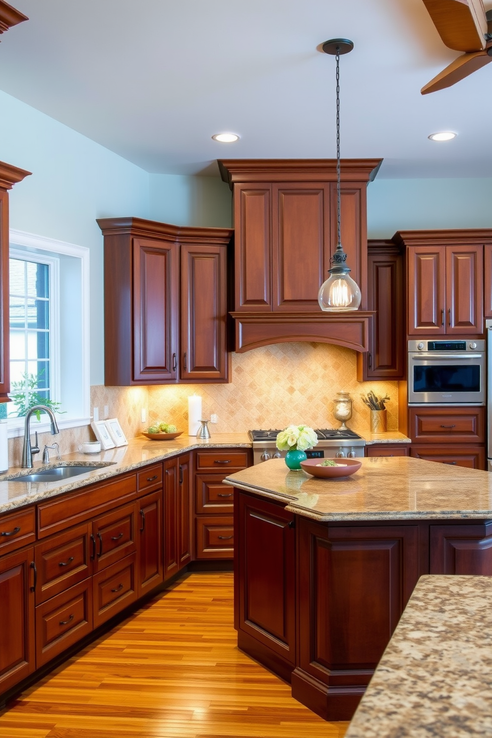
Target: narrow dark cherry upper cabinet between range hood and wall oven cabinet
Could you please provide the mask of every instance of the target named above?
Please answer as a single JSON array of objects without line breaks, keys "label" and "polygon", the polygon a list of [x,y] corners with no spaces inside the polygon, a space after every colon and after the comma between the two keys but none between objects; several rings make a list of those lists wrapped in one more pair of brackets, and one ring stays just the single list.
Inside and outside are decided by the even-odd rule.
[{"label": "narrow dark cherry upper cabinet between range hood and wall oven cabinet", "polygon": [[404,254],[392,241],[367,243],[367,309],[375,311],[369,351],[357,354],[357,379],[403,379]]}]

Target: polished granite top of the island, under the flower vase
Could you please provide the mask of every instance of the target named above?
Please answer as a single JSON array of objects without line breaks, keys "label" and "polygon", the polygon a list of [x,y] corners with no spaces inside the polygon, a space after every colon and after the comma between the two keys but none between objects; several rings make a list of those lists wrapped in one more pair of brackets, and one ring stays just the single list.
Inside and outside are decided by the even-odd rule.
[{"label": "polished granite top of the island, under the flower vase", "polygon": [[492,474],[408,456],[363,458],[350,477],[319,479],[271,459],[229,475],[239,489],[313,520],[492,519]]}]

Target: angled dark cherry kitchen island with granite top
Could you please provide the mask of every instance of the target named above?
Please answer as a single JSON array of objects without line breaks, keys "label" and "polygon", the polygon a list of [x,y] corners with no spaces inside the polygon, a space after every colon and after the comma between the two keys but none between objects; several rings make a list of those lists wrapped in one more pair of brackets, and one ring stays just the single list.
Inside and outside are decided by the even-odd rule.
[{"label": "angled dark cherry kitchen island with granite top", "polygon": [[408,457],[320,480],[266,461],[235,494],[238,645],[350,720],[424,574],[492,574],[492,475]]}]

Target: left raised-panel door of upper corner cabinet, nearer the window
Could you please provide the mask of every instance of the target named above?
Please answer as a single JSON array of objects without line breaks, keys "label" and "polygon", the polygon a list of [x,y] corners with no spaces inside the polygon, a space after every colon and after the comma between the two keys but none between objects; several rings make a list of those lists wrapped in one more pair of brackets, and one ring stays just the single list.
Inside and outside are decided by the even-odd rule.
[{"label": "left raised-panel door of upper corner cabinet, nearer the window", "polygon": [[179,252],[177,244],[134,238],[134,382],[176,380]]}]

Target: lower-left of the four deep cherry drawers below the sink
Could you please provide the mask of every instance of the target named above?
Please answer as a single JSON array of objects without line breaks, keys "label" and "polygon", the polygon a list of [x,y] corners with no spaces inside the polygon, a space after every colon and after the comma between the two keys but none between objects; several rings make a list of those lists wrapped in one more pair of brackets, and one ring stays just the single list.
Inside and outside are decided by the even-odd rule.
[{"label": "lower-left of the four deep cherry drawers below the sink", "polygon": [[91,579],[36,607],[36,668],[92,630]]}]

